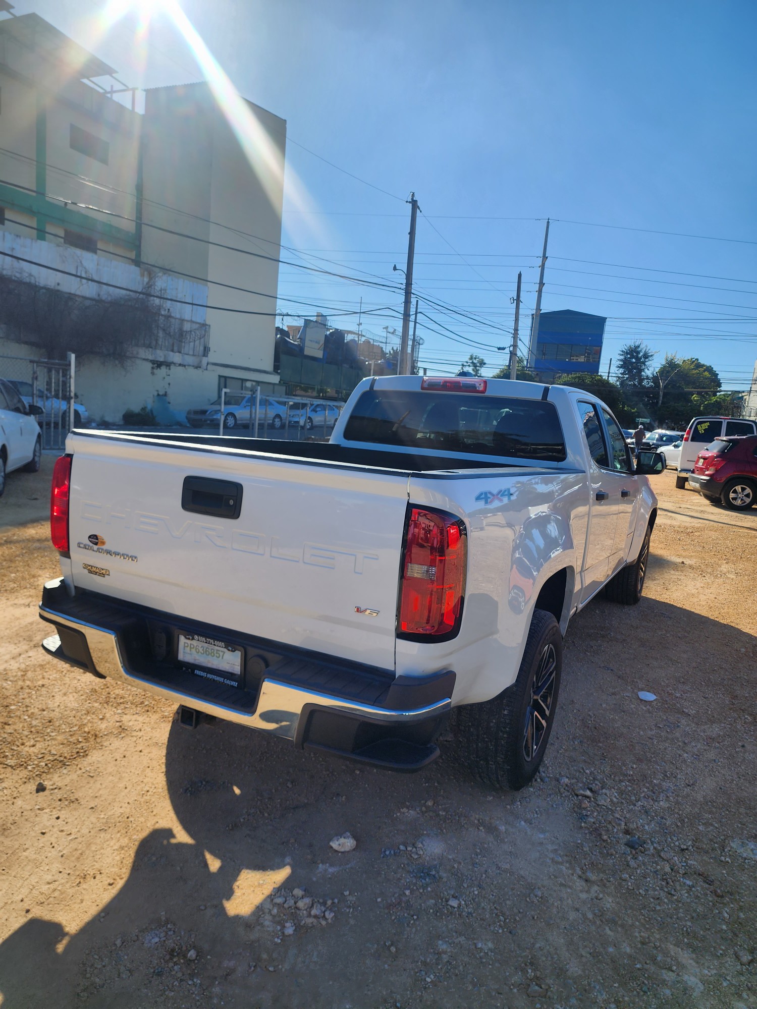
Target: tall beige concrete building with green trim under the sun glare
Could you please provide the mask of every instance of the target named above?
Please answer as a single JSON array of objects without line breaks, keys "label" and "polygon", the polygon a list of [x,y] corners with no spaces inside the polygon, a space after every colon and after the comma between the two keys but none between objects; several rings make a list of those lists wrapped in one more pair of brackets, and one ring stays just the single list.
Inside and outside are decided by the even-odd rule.
[{"label": "tall beige concrete building with green trim under the sun glare", "polygon": [[[286,122],[242,100],[243,150],[205,83],[148,90],[143,113],[111,88],[129,90],[0,0],[0,279],[132,293],[160,314],[159,338],[154,326],[134,336],[117,366],[108,331],[95,352],[79,349],[77,390],[95,419],[156,396],[183,413],[224,385],[274,391]],[[2,322],[0,306],[0,354],[42,354],[37,334]]]}]

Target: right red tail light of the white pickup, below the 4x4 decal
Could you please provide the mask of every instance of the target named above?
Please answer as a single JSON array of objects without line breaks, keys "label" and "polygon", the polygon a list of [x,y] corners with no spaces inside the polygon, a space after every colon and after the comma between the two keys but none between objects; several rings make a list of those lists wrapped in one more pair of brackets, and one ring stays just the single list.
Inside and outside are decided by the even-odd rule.
[{"label": "right red tail light of the white pickup, below the 4x4 decal", "polygon": [[460,629],[467,570],[465,524],[411,508],[402,558],[397,635],[440,641]]}]

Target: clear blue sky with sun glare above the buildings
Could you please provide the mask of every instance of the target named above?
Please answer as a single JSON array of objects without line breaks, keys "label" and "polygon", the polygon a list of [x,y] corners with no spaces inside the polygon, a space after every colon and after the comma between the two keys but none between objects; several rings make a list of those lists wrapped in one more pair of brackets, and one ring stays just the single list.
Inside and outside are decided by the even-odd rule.
[{"label": "clear blue sky with sun glare above the buildings", "polygon": [[[200,80],[160,4],[16,0],[129,86]],[[279,311],[312,302],[390,345],[410,207],[420,363],[507,363],[518,271],[542,311],[607,316],[601,370],[641,339],[746,389],[757,357],[757,5],[751,0],[183,0],[238,92],[287,120]],[[96,38],[96,44],[91,40]],[[298,184],[299,181],[299,184]],[[338,263],[338,267],[334,266]],[[281,321],[281,320],[279,320]]]}]

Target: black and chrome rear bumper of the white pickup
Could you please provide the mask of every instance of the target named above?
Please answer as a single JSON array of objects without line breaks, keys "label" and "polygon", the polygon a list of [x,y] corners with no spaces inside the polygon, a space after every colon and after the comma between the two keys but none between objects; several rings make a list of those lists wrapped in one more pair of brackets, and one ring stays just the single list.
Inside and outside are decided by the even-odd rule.
[{"label": "black and chrome rear bumper of the white pickup", "polygon": [[[451,671],[395,678],[94,592],[71,596],[61,578],[45,584],[39,616],[58,632],[42,643],[49,655],[203,714],[391,770],[416,771],[438,756],[435,739],[451,707]],[[179,631],[240,648],[240,685],[193,675],[172,658],[167,639]]]}]

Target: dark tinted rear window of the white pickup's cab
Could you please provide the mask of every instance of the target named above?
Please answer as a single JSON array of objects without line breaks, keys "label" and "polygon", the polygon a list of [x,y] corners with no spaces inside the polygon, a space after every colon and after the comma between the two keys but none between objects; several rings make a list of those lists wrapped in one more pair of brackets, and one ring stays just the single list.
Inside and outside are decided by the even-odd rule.
[{"label": "dark tinted rear window of the white pickup's cab", "polygon": [[416,451],[562,462],[565,440],[554,404],[480,394],[367,389],[345,441]]}]

